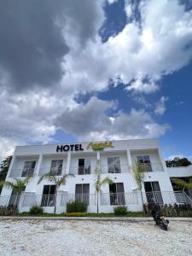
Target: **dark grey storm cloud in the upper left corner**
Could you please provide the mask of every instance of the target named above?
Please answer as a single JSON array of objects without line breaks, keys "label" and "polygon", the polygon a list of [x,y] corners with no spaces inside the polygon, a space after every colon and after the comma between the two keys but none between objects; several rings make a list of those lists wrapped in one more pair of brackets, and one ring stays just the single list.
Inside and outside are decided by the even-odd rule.
[{"label": "dark grey storm cloud in the upper left corner", "polygon": [[82,42],[91,37],[98,16],[94,2],[1,1],[0,79],[7,74],[15,90],[31,88],[34,84],[49,86],[59,81],[62,57],[70,50],[62,36],[61,25],[65,28],[70,17],[74,33]]}]

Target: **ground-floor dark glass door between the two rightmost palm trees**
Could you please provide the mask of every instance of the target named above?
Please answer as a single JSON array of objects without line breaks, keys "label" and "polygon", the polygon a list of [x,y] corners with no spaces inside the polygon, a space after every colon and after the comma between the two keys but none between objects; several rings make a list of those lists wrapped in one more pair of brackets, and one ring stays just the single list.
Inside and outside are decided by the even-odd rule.
[{"label": "ground-floor dark glass door between the two rightmost palm trees", "polygon": [[125,193],[123,183],[109,185],[110,205],[125,205]]}]

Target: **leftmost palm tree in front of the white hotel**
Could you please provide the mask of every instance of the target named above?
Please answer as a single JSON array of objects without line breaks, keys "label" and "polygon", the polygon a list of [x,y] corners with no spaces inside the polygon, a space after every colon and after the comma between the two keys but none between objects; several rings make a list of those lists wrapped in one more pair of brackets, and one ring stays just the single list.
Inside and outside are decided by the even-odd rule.
[{"label": "leftmost palm tree in front of the white hotel", "polygon": [[16,192],[15,202],[17,202],[18,199],[20,199],[21,192],[25,189],[26,185],[28,183],[30,183],[32,178],[33,178],[33,176],[28,176],[28,177],[25,177],[23,179],[15,177],[15,178],[13,178],[12,181],[2,181],[2,182],[0,182],[0,187],[4,186],[5,188],[12,189],[13,191],[15,191]]}]

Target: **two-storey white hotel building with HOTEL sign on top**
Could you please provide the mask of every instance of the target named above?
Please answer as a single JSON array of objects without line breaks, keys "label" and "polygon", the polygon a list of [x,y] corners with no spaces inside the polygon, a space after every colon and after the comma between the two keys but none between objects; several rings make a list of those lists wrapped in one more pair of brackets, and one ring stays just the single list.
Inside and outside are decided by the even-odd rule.
[{"label": "two-storey white hotel building with HOTEL sign on top", "polygon": [[[81,200],[88,205],[88,212],[96,212],[95,168],[97,160],[102,166],[102,177],[110,177],[113,184],[102,187],[99,195],[99,211],[113,212],[113,207],[125,205],[130,211],[142,211],[142,197],[132,173],[136,160],[144,164],[144,202],[192,203],[190,193],[174,191],[171,177],[192,177],[192,166],[167,168],[156,139],[119,140],[102,143],[19,146],[15,148],[9,166],[7,181],[33,175],[20,196],[3,187],[0,205],[17,204],[20,212],[29,211],[33,205],[44,207],[44,212],[54,212],[55,185],[38,179],[54,171],[68,177],[60,187],[56,200],[56,212],[66,211],[67,201]],[[97,143],[98,146],[98,143]],[[100,145],[101,147],[101,145]],[[95,150],[94,150],[95,149]],[[98,149],[98,148],[97,148]],[[16,199],[15,199],[16,198]]]}]

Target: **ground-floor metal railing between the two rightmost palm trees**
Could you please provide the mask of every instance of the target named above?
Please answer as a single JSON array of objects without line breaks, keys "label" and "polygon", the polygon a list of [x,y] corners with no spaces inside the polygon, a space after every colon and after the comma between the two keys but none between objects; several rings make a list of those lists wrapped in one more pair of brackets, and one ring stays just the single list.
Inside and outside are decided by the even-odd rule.
[{"label": "ground-floor metal railing between the two rightmost palm trees", "polygon": [[130,193],[103,193],[101,205],[129,205],[138,204],[137,192]]}]

